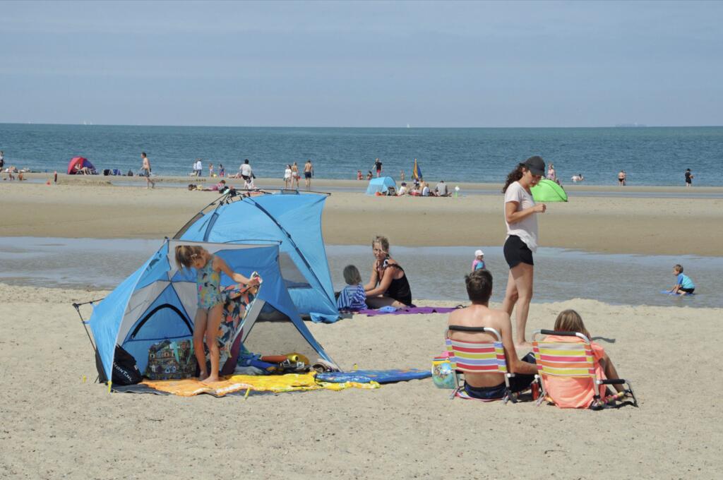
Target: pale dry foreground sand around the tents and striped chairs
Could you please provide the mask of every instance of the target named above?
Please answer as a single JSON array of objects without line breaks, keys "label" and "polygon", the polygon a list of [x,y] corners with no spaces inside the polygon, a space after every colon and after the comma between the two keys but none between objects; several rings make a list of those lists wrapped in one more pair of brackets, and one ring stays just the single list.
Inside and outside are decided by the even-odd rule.
[{"label": "pale dry foreground sand around the tents and striped chairs", "polygon": [[[534,305],[530,331],[578,309],[633,382],[640,408],[592,412],[449,400],[431,380],[247,400],[108,394],[82,382],[95,364],[70,306],[103,292],[0,294],[2,478],[711,479],[723,468],[719,310]],[[427,368],[445,322],[309,327],[342,367]]]}]

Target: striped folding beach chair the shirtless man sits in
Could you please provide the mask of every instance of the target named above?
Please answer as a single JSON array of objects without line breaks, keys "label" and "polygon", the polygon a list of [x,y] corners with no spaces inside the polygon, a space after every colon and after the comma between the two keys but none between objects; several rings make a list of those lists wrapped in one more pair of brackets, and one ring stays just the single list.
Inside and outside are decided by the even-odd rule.
[{"label": "striped folding beach chair the shirtless man sits in", "polygon": [[[497,340],[494,342],[461,342],[452,340],[450,332],[488,333]],[[502,338],[497,330],[489,327],[450,325],[445,334],[445,343],[449,352],[450,364],[454,371],[455,389],[450,398],[473,399],[464,391],[463,380],[459,378],[460,374],[501,373],[505,377],[505,396],[502,397],[502,403],[506,404],[509,400],[512,400],[513,403],[516,401],[517,395],[510,390],[510,377],[514,377],[515,374],[508,372],[505,349],[502,348]],[[474,398],[474,400],[480,399]]]}]

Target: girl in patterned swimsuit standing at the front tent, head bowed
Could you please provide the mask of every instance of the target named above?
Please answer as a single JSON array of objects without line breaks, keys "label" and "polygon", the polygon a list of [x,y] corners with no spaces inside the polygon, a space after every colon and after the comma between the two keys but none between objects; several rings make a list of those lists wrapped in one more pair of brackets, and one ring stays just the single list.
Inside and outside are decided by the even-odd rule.
[{"label": "girl in patterned swimsuit standing at the front tent, head bowed", "polygon": [[[179,245],[176,247],[176,263],[180,268],[197,270],[198,309],[193,322],[193,348],[196,352],[199,380],[202,382],[218,382],[218,335],[223,312],[221,299],[221,272],[226,273],[234,282],[256,286],[260,278],[246,278],[226,265],[221,257],[211,254],[197,245]],[[206,369],[206,356],[203,351],[203,339],[210,352],[211,371]]]}]

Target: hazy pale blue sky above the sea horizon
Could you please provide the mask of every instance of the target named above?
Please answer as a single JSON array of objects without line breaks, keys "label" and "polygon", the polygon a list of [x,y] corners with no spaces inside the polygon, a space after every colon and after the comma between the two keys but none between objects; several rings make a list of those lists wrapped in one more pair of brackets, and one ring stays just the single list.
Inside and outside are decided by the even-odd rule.
[{"label": "hazy pale blue sky above the sea horizon", "polygon": [[0,1],[0,122],[723,125],[723,2]]}]

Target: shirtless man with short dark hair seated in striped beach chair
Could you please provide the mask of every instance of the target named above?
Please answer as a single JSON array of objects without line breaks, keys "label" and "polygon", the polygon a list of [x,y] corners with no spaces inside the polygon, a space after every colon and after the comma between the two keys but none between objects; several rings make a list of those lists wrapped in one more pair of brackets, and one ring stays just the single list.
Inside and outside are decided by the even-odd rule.
[{"label": "shirtless man with short dark hair seated in striped beach chair", "polygon": [[[462,325],[465,327],[494,328],[502,336],[502,348],[505,349],[505,358],[510,373],[510,390],[513,393],[527,390],[537,367],[531,354],[522,361],[517,356],[512,340],[512,322],[510,315],[502,310],[489,308],[489,297],[492,296],[492,274],[488,270],[475,270],[466,275],[465,283],[467,295],[472,304],[469,307],[455,310],[450,313],[448,325]],[[488,333],[449,332],[450,338],[461,342],[496,341],[494,335]],[[530,363],[528,363],[528,361]],[[505,396],[505,377],[501,373],[465,373],[464,391],[473,398],[492,400]]]}]

